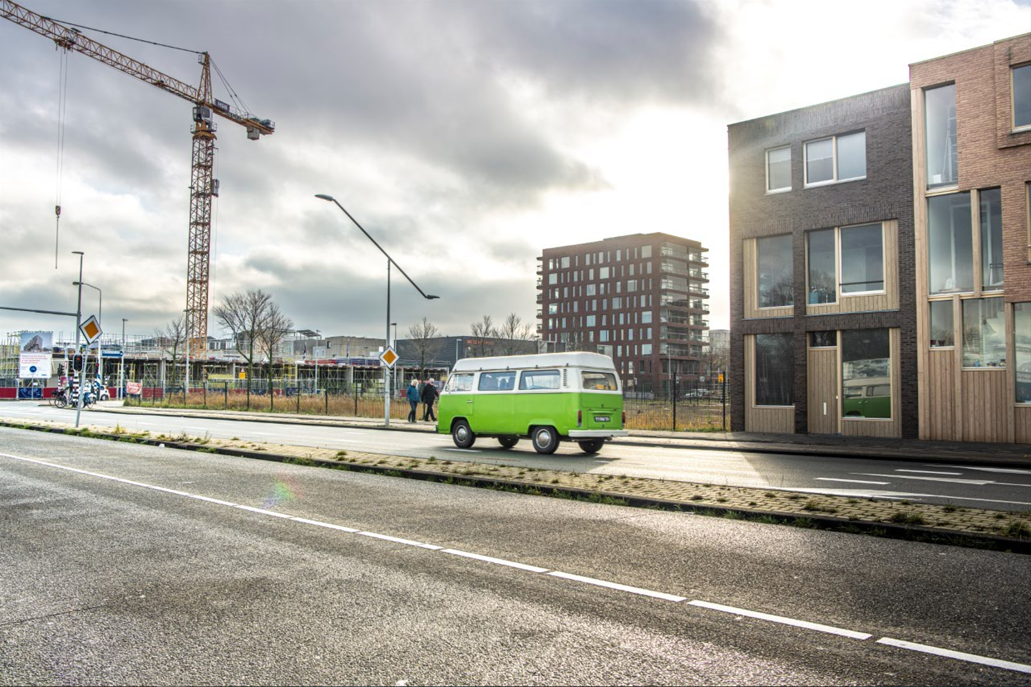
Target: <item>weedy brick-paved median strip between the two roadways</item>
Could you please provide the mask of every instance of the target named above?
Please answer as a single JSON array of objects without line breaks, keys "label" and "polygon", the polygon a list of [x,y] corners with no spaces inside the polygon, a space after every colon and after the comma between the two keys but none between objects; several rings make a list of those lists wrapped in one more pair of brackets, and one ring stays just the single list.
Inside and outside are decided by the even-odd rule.
[{"label": "weedy brick-paved median strip between the two roadways", "polygon": [[[14,427],[51,427],[75,432],[67,422],[0,418],[0,425]],[[912,525],[940,534],[993,536],[1013,541],[1031,541],[1031,511],[1011,513],[989,509],[914,504],[906,501],[852,499],[823,494],[804,494],[775,488],[734,487],[674,480],[595,475],[520,466],[498,466],[437,457],[411,458],[359,451],[337,451],[274,442],[221,440],[186,433],[155,435],[130,434],[110,426],[85,425],[80,432],[118,436],[123,441],[146,440],[192,445],[215,452],[241,451],[261,453],[295,462],[338,468],[375,468],[378,471],[413,471],[438,479],[502,480],[526,489],[578,489],[599,497],[658,500],[690,508],[712,508],[771,516],[812,517],[842,523]],[[618,503],[618,502],[617,502]]]}]

